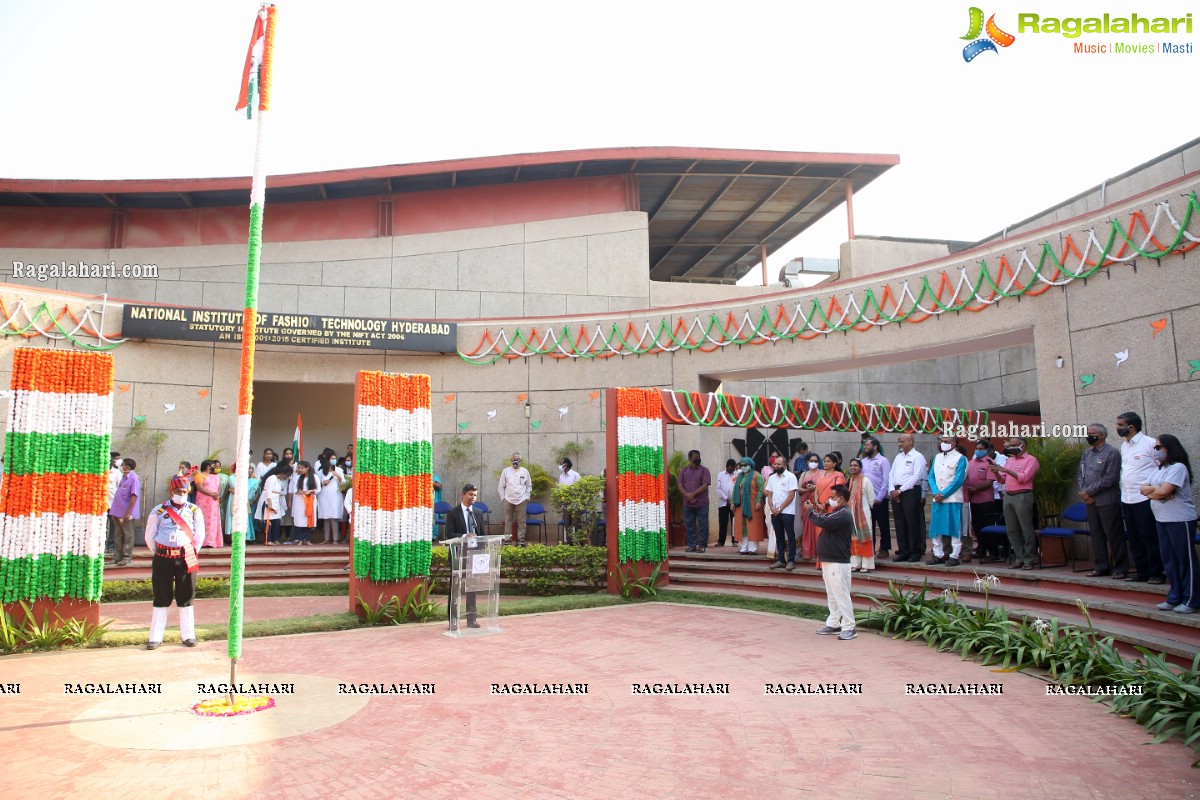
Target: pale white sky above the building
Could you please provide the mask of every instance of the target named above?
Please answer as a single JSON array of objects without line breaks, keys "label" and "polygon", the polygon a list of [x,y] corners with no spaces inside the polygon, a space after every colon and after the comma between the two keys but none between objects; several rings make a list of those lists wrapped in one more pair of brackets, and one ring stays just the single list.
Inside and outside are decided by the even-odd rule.
[{"label": "pale white sky above the building", "polygon": [[[973,241],[1200,136],[1194,0],[983,5],[1015,41],[970,62],[971,5],[943,0],[277,5],[269,175],[612,146],[895,154],[856,233]],[[248,175],[233,106],[257,8],[5,0],[0,179]],[[1194,12],[1194,32],[1018,19],[1134,12]],[[1162,42],[1193,52],[1074,52]],[[839,210],[769,270],[845,239]]]}]

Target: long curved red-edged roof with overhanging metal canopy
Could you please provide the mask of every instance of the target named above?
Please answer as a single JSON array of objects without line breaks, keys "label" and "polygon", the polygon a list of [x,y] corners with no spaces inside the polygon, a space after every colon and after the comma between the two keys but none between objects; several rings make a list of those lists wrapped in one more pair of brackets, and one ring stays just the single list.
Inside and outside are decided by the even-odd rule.
[{"label": "long curved red-edged roof with overhanging metal canopy", "polygon": [[[470,186],[634,175],[649,217],[650,277],[732,283],[846,199],[894,155],[611,148],[278,175],[266,201],[385,197]],[[202,209],[250,203],[250,178],[0,180],[0,206]]]}]

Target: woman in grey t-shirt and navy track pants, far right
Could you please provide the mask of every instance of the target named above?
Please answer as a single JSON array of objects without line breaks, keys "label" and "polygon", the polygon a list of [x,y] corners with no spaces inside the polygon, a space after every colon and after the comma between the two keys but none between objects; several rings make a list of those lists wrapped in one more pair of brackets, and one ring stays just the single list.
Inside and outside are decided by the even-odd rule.
[{"label": "woman in grey t-shirt and navy track pants, far right", "polygon": [[1158,469],[1141,485],[1140,493],[1154,512],[1169,584],[1166,601],[1157,608],[1193,614],[1200,608],[1200,559],[1193,545],[1196,504],[1192,497],[1192,463],[1180,440],[1169,433],[1159,434],[1153,453]]}]

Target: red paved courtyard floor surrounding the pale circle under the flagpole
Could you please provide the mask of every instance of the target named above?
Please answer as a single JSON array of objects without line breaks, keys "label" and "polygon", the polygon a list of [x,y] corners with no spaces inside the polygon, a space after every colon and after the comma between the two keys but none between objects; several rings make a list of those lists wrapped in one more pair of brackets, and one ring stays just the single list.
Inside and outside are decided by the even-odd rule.
[{"label": "red paved courtyard floor surrounding the pale circle under the flagpole", "polygon": [[[450,639],[440,625],[246,642],[241,674],[436,682],[343,722],[256,745],[155,753],[74,739],[100,698],[65,681],[221,680],[223,643],[10,656],[0,694],[4,798],[1194,798],[1200,771],[1036,678],[916,643],[769,614],[649,603],[514,616]],[[730,684],[641,697],[631,684]],[[862,696],[764,696],[767,682],[862,682]],[[586,696],[493,696],[491,684],[587,682]],[[906,696],[908,682],[1002,684],[1002,696]],[[299,698],[304,699],[304,698]],[[317,700],[318,698],[310,698]],[[268,711],[266,714],[270,714]]]}]

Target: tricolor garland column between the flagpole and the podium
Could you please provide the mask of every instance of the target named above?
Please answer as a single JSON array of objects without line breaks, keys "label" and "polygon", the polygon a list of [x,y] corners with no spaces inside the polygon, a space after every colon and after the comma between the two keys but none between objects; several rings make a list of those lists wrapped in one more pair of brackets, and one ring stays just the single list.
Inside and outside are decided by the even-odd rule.
[{"label": "tricolor garland column between the flagpole and the podium", "polygon": [[354,443],[354,575],[430,573],[433,415],[428,375],[360,372]]}]

